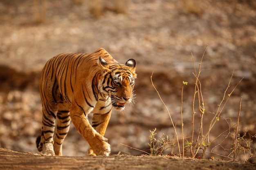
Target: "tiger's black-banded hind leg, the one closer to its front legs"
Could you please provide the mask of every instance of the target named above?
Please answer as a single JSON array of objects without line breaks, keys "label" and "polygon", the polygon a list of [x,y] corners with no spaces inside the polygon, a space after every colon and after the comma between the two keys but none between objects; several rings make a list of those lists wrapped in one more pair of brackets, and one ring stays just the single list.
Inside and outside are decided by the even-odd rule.
[{"label": "tiger's black-banded hind leg, the one closer to its front legs", "polygon": [[62,155],[62,144],[70,129],[70,103],[59,102],[57,112],[57,125],[54,136],[54,152],[56,155]]}]

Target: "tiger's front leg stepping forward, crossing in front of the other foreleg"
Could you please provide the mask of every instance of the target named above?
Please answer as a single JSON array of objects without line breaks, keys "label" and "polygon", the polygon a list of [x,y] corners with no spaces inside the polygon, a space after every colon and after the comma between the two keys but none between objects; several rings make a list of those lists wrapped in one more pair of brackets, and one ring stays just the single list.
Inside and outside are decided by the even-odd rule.
[{"label": "tiger's front leg stepping forward, crossing in front of the other foreleg", "polygon": [[85,109],[79,107],[77,104],[72,104],[70,108],[70,117],[76,130],[88,142],[91,149],[93,150],[93,153],[95,155],[109,156],[110,144],[107,142],[108,139],[103,137],[103,135],[92,128],[87,117],[85,116],[86,113],[90,113],[92,110],[92,107]]}]

